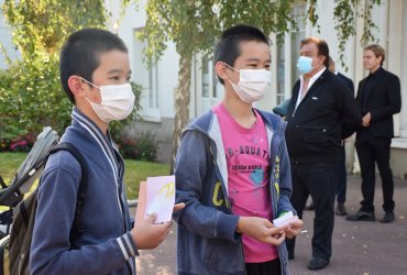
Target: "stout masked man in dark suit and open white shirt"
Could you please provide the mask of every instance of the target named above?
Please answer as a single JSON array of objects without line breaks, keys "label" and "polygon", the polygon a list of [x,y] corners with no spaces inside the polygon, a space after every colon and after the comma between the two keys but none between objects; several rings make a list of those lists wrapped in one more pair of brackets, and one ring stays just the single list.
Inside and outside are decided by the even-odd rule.
[{"label": "stout masked man in dark suit and open white shirt", "polygon": [[[352,91],[329,69],[324,41],[300,42],[297,67],[302,74],[293,88],[287,113],[286,140],[292,163],[292,204],[298,217],[311,195],[314,220],[312,260],[309,270],[329,264],[334,221],[336,176],[341,141],[362,123]],[[286,240],[294,258],[295,240]]]}]

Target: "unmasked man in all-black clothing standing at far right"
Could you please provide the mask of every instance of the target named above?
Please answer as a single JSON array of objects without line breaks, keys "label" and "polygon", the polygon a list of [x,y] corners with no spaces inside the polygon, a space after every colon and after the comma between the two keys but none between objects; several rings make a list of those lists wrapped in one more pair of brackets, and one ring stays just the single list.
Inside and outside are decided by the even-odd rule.
[{"label": "unmasked man in all-black clothing standing at far right", "polygon": [[369,76],[359,82],[356,103],[363,116],[363,127],[356,133],[356,152],[361,164],[362,195],[361,209],[348,220],[374,221],[375,163],[383,188],[381,222],[395,220],[393,200],[394,183],[389,166],[391,143],[394,136],[393,114],[402,109],[400,81],[397,76],[383,69],[385,51],[377,44],[365,47],[363,65]]}]

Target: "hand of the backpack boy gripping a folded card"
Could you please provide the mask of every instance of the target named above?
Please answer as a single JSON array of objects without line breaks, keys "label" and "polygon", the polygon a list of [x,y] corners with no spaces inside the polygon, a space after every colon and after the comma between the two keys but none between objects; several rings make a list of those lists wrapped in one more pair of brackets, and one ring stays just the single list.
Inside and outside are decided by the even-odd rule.
[{"label": "hand of the backpack boy gripping a folded card", "polygon": [[152,250],[158,246],[168,234],[173,222],[166,221],[161,224],[154,224],[157,218],[156,213],[150,215],[141,223],[135,224],[131,234],[139,250]]}]

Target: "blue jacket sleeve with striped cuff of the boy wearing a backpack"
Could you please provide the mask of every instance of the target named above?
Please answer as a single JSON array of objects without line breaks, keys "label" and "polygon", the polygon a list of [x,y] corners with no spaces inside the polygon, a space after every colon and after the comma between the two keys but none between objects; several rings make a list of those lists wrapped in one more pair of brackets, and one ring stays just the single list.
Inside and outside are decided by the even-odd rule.
[{"label": "blue jacket sleeve with striped cuff of the boy wearing a backpack", "polygon": [[[61,154],[70,155],[62,152]],[[56,155],[54,161],[59,162]],[[50,160],[51,160],[50,157]],[[70,156],[75,167],[61,165],[46,170],[37,193],[37,210],[30,255],[32,274],[106,274],[123,267],[138,248],[130,234],[102,240],[98,245],[72,249],[69,232],[74,221],[79,186],[79,163]],[[64,163],[66,164],[66,163]]]}]

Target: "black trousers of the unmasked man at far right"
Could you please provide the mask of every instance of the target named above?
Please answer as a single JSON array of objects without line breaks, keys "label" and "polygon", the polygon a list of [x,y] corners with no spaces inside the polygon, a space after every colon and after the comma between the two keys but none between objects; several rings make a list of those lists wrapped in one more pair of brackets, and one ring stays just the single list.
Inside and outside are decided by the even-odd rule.
[{"label": "black trousers of the unmasked man at far right", "polygon": [[375,162],[382,178],[383,210],[385,212],[394,210],[394,182],[389,165],[391,143],[391,138],[372,136],[367,129],[358,133],[355,146],[362,174],[362,211],[374,211]]}]

